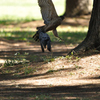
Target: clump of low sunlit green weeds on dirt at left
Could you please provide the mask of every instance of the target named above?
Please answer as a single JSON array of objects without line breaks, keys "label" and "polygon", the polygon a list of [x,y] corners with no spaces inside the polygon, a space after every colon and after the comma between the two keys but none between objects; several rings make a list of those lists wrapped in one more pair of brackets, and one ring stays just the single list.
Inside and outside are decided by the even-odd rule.
[{"label": "clump of low sunlit green weeds on dirt at left", "polygon": [[[30,67],[30,62],[25,59],[26,56],[28,56],[29,53],[25,52],[24,54],[20,54],[20,52],[16,52],[14,54],[13,59],[7,59],[3,65],[4,71],[2,73],[11,73],[14,72],[14,76],[20,77],[20,74],[28,75],[31,73],[36,72],[35,67]],[[15,67],[18,67],[16,68]],[[12,67],[12,69],[10,69]]]}]

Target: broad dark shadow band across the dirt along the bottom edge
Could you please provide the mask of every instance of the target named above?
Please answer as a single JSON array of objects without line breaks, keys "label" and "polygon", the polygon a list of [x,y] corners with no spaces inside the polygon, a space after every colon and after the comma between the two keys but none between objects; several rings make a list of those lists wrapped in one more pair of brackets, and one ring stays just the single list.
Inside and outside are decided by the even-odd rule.
[{"label": "broad dark shadow band across the dirt along the bottom edge", "polygon": [[[46,85],[29,85],[20,84],[18,86],[0,85],[0,97],[9,97],[17,99],[28,100],[29,98],[35,100],[35,96],[41,95],[51,96],[57,100],[99,100],[100,84],[85,84],[76,86],[46,86]],[[42,98],[44,100],[47,100]],[[49,98],[50,99],[50,98]],[[50,99],[51,100],[51,99]],[[54,100],[54,99],[52,99]]]}]

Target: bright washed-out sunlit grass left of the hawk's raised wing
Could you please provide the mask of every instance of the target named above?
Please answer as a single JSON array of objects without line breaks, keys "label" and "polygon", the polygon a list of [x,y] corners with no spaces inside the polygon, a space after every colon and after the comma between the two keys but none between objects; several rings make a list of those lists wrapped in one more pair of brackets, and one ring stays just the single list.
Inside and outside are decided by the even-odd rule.
[{"label": "bright washed-out sunlit grass left of the hawk's raised wing", "polygon": [[2,19],[2,16],[5,16],[6,19],[8,19],[10,16],[13,16],[13,19],[15,20],[16,18],[25,19],[27,16],[31,18],[41,18],[38,3],[35,0],[1,0],[0,10],[2,11],[0,16]]}]

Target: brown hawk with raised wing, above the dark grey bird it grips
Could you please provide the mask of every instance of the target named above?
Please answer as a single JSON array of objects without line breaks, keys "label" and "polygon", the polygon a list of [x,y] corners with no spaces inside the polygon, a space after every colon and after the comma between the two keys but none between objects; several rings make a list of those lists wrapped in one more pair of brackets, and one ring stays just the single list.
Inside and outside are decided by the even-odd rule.
[{"label": "brown hawk with raised wing, above the dark grey bird it grips", "polygon": [[54,36],[59,38],[56,28],[61,24],[62,18],[57,15],[52,0],[38,0],[38,4],[45,24],[43,27],[38,27],[38,30],[44,32],[53,30]]}]

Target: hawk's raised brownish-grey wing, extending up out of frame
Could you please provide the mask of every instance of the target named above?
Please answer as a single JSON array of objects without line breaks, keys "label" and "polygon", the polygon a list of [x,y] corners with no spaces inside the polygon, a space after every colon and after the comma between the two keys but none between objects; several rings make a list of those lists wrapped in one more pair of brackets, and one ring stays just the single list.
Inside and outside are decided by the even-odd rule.
[{"label": "hawk's raised brownish-grey wing, extending up out of frame", "polygon": [[48,25],[51,20],[58,18],[56,9],[52,0],[38,0],[44,23]]}]

